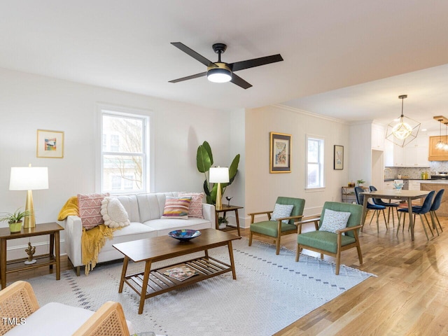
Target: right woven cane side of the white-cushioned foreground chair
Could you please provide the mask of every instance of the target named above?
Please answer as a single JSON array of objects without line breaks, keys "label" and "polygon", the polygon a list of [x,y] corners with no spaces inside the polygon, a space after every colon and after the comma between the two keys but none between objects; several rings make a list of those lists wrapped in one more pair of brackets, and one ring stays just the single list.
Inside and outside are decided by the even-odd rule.
[{"label": "right woven cane side of the white-cushioned foreground chair", "polygon": [[108,301],[73,334],[73,336],[130,336],[123,307],[118,302]]}]

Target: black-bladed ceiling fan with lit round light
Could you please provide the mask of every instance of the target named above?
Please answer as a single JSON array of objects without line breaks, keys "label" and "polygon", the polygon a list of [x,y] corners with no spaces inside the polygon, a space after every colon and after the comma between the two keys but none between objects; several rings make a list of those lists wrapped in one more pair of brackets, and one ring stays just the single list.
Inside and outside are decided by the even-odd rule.
[{"label": "black-bladed ceiling fan with lit round light", "polygon": [[254,59],[247,59],[246,61],[241,62],[235,62],[235,63],[225,63],[221,62],[221,54],[225,52],[225,49],[227,49],[227,45],[224,43],[215,43],[212,45],[212,48],[214,52],[218,54],[218,62],[211,62],[209,59],[205,58],[204,56],[198,54],[195,52],[195,50],[188,48],[185,44],[181,42],[172,42],[172,45],[179,48],[183,52],[186,52],[186,54],[190,55],[194,59],[197,59],[199,62],[207,66],[207,71],[196,73],[195,75],[178,78],[174,80],[169,80],[169,83],[178,83],[182,82],[183,80],[198,78],[202,76],[207,76],[207,78],[211,82],[215,83],[225,83],[225,82],[232,82],[239,87],[242,87],[243,89],[248,89],[252,85],[247,83],[246,80],[243,78],[235,75],[235,71],[253,68],[254,66],[260,66],[265,65],[269,63],[274,62],[280,62],[283,61],[283,58],[280,54],[277,55],[271,55],[271,56],[265,56],[260,58],[254,58]]}]

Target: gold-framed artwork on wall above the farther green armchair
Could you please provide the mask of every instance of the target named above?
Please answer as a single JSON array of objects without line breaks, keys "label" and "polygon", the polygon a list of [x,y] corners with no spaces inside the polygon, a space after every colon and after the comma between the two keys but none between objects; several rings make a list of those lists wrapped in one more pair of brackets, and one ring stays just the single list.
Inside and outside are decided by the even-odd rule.
[{"label": "gold-framed artwork on wall above the farther green armchair", "polygon": [[270,132],[271,173],[291,172],[291,134]]}]

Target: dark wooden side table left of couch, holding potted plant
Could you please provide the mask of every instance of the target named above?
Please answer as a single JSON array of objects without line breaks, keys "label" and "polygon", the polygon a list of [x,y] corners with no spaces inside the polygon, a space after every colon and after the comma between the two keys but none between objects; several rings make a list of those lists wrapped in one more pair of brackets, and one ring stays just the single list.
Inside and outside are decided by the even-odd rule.
[{"label": "dark wooden side table left of couch, holding potted plant", "polygon": [[[59,258],[59,231],[64,230],[58,223],[36,224],[36,228],[24,229],[18,233],[10,233],[9,228],[0,228],[0,277],[1,289],[6,287],[6,274],[17,272],[23,269],[32,269],[43,266],[50,266],[52,273],[53,265],[56,265],[56,280],[61,279],[61,267]],[[50,251],[48,254],[34,255],[36,263],[25,265],[28,258],[6,260],[6,241],[25,237],[50,235]]]}]

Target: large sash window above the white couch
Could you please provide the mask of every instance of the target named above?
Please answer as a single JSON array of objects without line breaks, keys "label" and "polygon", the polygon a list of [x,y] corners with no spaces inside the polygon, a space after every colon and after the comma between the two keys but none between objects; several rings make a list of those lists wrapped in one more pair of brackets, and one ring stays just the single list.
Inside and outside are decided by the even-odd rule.
[{"label": "large sash window above the white couch", "polygon": [[101,110],[101,191],[144,193],[148,189],[148,117]]}]

